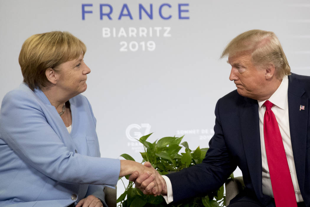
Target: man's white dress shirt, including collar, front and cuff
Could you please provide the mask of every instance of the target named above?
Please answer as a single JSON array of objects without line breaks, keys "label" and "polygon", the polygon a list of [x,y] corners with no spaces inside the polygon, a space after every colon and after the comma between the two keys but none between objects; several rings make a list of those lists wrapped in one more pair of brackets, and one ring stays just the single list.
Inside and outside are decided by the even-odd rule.
[{"label": "man's white dress shirt, including collar, front and cuff", "polygon": [[[301,196],[299,185],[297,181],[297,174],[295,169],[294,157],[293,157],[293,149],[292,143],[290,139],[290,123],[289,123],[289,109],[288,109],[288,98],[287,98],[287,91],[288,91],[288,77],[285,76],[282,79],[282,82],[279,88],[272,94],[272,96],[268,99],[270,102],[274,104],[272,106],[272,112],[274,113],[281,137],[283,140],[284,150],[287,158],[287,162],[290,169],[291,178],[293,181],[293,186],[295,190],[295,196],[297,202],[303,202],[303,197]],[[263,194],[273,197],[272,186],[270,181],[270,174],[266,156],[266,148],[265,148],[265,140],[264,140],[264,114],[265,114],[265,106],[263,106],[264,101],[258,101],[259,105],[259,132],[260,132],[260,146],[262,152],[262,183],[263,183]],[[172,185],[170,179],[163,175],[162,176],[167,185],[167,195],[162,195],[166,200],[167,204],[173,201],[173,193],[172,193]],[[285,186],[283,186],[285,187]]]}]

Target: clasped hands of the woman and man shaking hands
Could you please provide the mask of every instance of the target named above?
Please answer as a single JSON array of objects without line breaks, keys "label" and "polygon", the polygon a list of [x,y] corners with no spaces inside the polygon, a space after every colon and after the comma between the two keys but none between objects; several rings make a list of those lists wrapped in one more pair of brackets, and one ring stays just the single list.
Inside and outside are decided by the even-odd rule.
[{"label": "clasped hands of the woman and man shaking hands", "polygon": [[135,182],[135,187],[144,194],[159,196],[167,194],[167,186],[162,176],[151,163],[144,165],[131,160],[121,160],[120,176],[130,175],[129,180]]}]

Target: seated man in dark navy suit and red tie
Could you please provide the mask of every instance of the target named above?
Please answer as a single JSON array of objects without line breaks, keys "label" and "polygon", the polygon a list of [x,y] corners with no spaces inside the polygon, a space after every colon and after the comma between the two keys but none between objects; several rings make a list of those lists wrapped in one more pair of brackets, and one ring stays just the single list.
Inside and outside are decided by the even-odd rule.
[{"label": "seated man in dark navy suit and red tie", "polygon": [[[310,77],[290,73],[273,32],[246,31],[224,49],[237,90],[215,107],[214,136],[201,164],[165,176],[167,202],[218,189],[237,168],[245,189],[235,206],[310,206]],[[144,193],[156,184],[130,177]],[[154,191],[154,190],[153,190]]]}]

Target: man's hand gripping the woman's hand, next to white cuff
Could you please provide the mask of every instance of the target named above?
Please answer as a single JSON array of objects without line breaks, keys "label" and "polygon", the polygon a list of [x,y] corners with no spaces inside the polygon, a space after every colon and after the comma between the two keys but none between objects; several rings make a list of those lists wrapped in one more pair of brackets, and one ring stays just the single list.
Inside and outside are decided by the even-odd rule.
[{"label": "man's hand gripping the woman's hand, next to white cuff", "polygon": [[[149,162],[145,162],[144,166],[154,169]],[[167,187],[165,180],[155,169],[154,171],[157,173],[157,176],[161,178],[159,182],[153,174],[149,174],[148,172],[139,174],[138,171],[133,172],[129,180],[135,182],[135,187],[139,188],[144,194],[153,194],[154,196],[166,194]]]}]

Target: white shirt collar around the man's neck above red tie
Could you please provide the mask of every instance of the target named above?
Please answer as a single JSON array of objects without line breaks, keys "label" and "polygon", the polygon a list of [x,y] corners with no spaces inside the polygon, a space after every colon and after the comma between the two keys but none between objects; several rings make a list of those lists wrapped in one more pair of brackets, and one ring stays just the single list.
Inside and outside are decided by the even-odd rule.
[{"label": "white shirt collar around the man's neck above red tie", "polygon": [[[289,79],[288,76],[284,76],[282,79],[282,82],[277,88],[277,90],[271,95],[271,97],[268,99],[270,102],[272,102],[277,107],[285,110],[286,109],[286,102],[287,102],[287,90],[289,88]],[[261,108],[263,106],[263,103],[266,100],[258,101],[258,106]]]}]

